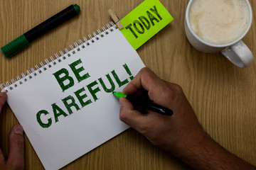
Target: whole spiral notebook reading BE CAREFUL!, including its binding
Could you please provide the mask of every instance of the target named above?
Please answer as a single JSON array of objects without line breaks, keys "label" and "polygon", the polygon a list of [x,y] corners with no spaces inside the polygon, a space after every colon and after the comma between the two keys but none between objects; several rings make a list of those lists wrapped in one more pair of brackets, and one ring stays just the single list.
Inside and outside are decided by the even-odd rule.
[{"label": "whole spiral notebook reading BE CAREFUL!, including its binding", "polygon": [[60,169],[129,128],[112,91],[122,91],[142,67],[112,23],[1,89],[44,168]]}]

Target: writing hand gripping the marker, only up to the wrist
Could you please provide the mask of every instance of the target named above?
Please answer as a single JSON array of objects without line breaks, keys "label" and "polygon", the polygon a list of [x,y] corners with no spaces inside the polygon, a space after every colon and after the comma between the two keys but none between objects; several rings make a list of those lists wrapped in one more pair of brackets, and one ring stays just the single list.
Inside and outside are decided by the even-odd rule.
[{"label": "writing hand gripping the marker, only up to the wrist", "polygon": [[198,145],[206,137],[180,86],[163,81],[150,69],[144,68],[124,88],[123,93],[142,96],[141,91],[144,90],[151,101],[170,108],[174,115],[153,111],[142,114],[126,98],[120,98],[120,120],[142,133],[154,145],[176,156]]}]

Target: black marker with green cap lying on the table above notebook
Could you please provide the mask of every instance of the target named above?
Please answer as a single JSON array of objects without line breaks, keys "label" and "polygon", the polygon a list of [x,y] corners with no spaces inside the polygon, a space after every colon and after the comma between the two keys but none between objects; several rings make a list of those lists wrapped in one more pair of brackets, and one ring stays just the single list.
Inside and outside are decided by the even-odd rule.
[{"label": "black marker with green cap lying on the table above notebook", "polygon": [[55,16],[48,18],[48,20],[39,24],[35,28],[28,30],[28,32],[9,42],[4,47],[1,47],[1,51],[7,58],[9,58],[22,50],[24,47],[28,46],[30,42],[40,37],[44,33],[47,33],[49,30],[59,26],[61,23],[68,21],[70,18],[77,16],[79,12],[80,7],[77,4],[70,5],[63,11],[55,14]]}]

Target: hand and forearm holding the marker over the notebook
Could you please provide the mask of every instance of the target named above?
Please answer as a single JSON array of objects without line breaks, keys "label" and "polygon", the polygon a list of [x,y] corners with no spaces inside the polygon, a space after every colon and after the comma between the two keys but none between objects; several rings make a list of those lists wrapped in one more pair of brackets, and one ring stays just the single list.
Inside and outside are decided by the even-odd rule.
[{"label": "hand and forearm holding the marker over the notebook", "polygon": [[153,111],[142,114],[126,98],[120,98],[120,120],[142,133],[154,145],[182,159],[193,169],[253,169],[255,166],[231,154],[203,131],[180,86],[159,79],[150,69],[142,69],[124,88],[124,94],[143,96],[170,108],[174,114]]}]

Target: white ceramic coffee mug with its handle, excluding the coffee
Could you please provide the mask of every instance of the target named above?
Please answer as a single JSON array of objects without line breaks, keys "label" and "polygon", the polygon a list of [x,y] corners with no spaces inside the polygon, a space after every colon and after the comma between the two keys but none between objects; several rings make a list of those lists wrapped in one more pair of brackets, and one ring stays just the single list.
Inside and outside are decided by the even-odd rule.
[{"label": "white ceramic coffee mug with its handle, excluding the coffee", "polygon": [[245,37],[245,35],[250,30],[250,27],[252,25],[252,7],[250,6],[250,2],[248,0],[245,0],[250,11],[250,23],[247,27],[247,30],[245,33],[238,38],[237,40],[230,42],[225,45],[215,45],[211,44],[209,42],[206,42],[202,40],[201,38],[196,35],[196,33],[193,32],[191,28],[191,24],[189,23],[189,10],[191,8],[191,4],[194,0],[190,0],[188,3],[188,6],[186,8],[186,16],[185,16],[185,31],[186,36],[188,38],[188,41],[191,43],[193,47],[196,48],[196,50],[199,50],[201,52],[221,52],[230,62],[237,65],[238,67],[247,67],[249,64],[253,61],[253,55],[252,52],[249,50],[247,45],[245,45],[244,42],[242,42],[242,38]]}]

